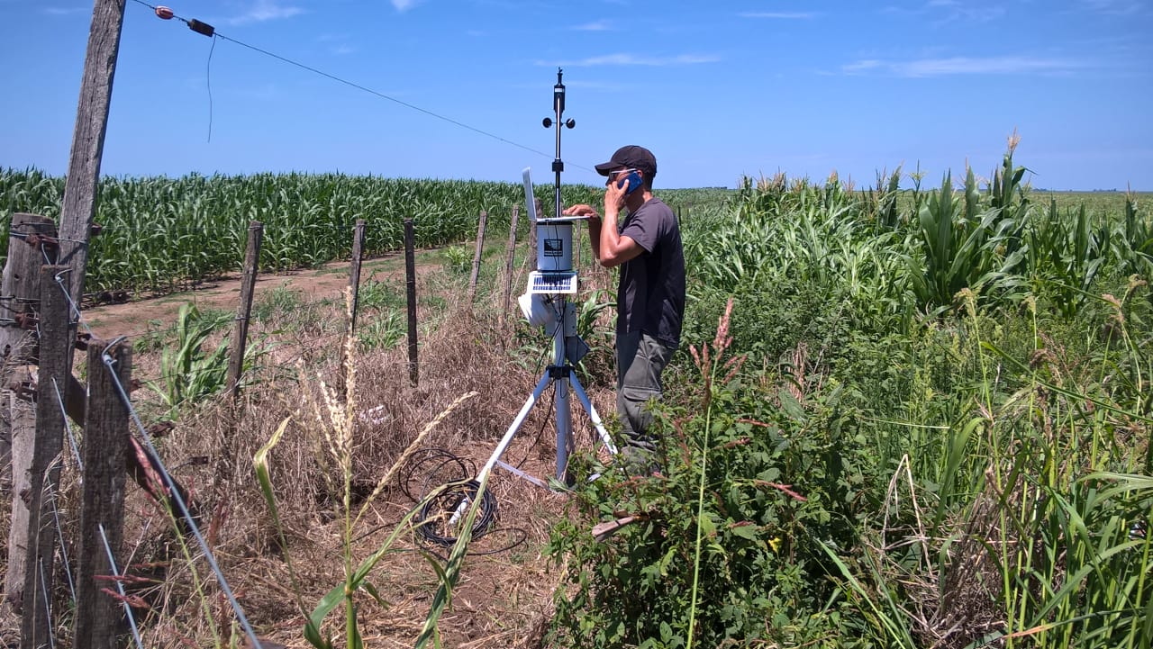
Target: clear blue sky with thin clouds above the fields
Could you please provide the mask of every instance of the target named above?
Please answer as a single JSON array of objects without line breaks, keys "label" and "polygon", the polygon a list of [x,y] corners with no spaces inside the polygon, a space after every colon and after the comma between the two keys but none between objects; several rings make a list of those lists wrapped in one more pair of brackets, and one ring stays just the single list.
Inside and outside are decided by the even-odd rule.
[{"label": "clear blue sky with thin clouds above the fields", "polygon": [[[161,21],[128,0],[103,172],[564,181],[623,144],[656,187],[918,165],[980,176],[1017,129],[1034,187],[1153,190],[1138,0],[173,0],[178,16],[498,136]],[[91,1],[0,0],[0,167],[67,169]],[[210,92],[211,88],[211,92]],[[210,139],[211,134],[211,139]],[[907,184],[907,182],[906,182]]]}]

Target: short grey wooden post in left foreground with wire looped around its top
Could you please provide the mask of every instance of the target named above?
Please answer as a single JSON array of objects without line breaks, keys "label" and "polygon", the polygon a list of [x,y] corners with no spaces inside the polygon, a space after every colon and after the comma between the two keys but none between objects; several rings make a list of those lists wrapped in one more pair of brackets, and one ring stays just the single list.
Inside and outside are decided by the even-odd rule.
[{"label": "short grey wooden post in left foreground with wire looped around its top", "polygon": [[[88,408],[84,410],[84,485],[80,512],[80,558],[76,575],[76,617],[73,647],[114,649],[119,603],[101,590],[113,588],[113,557],[120,551],[125,513],[125,451],[128,447],[128,406],[116,387],[131,377],[131,346],[108,349],[113,370],[104,364],[107,342],[92,340],[88,348]],[[127,388],[126,388],[127,391]]]}]

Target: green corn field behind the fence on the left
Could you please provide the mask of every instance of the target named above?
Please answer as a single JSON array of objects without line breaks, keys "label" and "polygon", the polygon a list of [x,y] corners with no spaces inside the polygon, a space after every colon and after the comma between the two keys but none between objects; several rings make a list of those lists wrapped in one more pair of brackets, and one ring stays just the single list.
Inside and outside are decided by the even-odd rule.
[{"label": "green corn field behind the fence on the left", "polygon": [[[65,179],[36,169],[0,169],[0,206],[5,216],[59,219],[63,187]],[[475,237],[481,210],[492,227],[507,227],[523,195],[515,183],[341,174],[105,178],[86,288],[167,293],[234,272],[253,220],[264,224],[261,269],[273,272],[347,258],[357,219],[367,222],[366,255],[401,249],[408,218],[416,247],[443,246]],[[551,195],[551,187],[537,190],[545,204]],[[0,247],[7,248],[7,239]]]}]

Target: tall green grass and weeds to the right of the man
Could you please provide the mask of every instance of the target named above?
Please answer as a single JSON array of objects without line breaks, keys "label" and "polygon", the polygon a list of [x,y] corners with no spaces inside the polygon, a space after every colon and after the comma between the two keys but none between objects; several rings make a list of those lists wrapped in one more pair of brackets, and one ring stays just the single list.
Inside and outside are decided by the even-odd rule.
[{"label": "tall green grass and weeds to the right of the man", "polygon": [[[1013,144],[987,182],[966,169],[906,193],[882,174],[858,193],[778,175],[683,224],[686,345],[736,296],[732,352],[749,362],[701,421],[675,361],[666,481],[598,485],[583,511],[633,489],[625,508],[650,522],[609,548],[555,535],[578,563],[559,637],[1150,646],[1153,220],[1137,195],[1038,199]],[[741,490],[756,481],[807,500]],[[621,619],[608,595],[631,583],[643,598]]]}]

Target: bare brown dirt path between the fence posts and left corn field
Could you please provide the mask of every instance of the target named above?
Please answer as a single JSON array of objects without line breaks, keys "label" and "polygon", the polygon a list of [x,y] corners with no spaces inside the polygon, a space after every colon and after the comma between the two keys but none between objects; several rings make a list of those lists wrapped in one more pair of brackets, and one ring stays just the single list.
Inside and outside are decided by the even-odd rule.
[{"label": "bare brown dirt path between the fence posts and left corn field", "polygon": [[[430,257],[429,251],[417,252],[417,273],[436,265],[437,262]],[[404,274],[405,258],[400,252],[366,259],[361,264],[361,286],[368,281],[404,281]],[[306,302],[339,299],[348,286],[348,262],[333,262],[319,269],[259,274],[256,278],[253,302],[259,303],[262,295],[277,288],[300,292]],[[206,282],[194,290],[121,304],[90,307],[84,309],[84,322],[97,338],[111,339],[145,332],[150,323],[158,322],[163,325],[173,323],[180,305],[186,302],[195,303],[201,311],[235,310],[240,303],[240,279],[241,276],[238,273]]]}]

